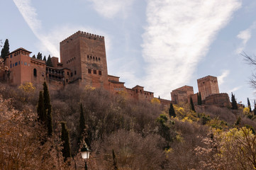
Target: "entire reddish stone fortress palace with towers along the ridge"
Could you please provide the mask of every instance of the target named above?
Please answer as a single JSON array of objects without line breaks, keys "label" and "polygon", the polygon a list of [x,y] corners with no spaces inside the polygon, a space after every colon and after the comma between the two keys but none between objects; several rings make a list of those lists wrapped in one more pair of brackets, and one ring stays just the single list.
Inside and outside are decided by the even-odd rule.
[{"label": "entire reddish stone fortress palace with towers along the ridge", "polygon": [[[126,88],[119,77],[108,75],[104,36],[78,31],[60,42],[60,62],[52,57],[52,66],[44,60],[30,57],[30,51],[18,48],[10,52],[4,61],[0,61],[0,79],[18,86],[26,82],[43,84],[50,88],[61,89],[68,84],[79,87],[93,86],[116,94],[124,91],[126,96],[135,100],[151,101],[154,93],[145,91],[143,86]],[[197,80],[204,105],[229,106],[228,94],[220,94],[217,77],[207,76]],[[197,104],[197,95],[193,86],[182,86],[171,92],[172,101],[158,98],[163,105],[188,103],[190,98]]]}]

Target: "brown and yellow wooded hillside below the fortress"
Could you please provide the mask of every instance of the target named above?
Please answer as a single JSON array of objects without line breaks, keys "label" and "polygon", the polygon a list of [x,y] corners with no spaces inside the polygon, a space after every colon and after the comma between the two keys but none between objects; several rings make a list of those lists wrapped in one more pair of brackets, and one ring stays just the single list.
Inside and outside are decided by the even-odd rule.
[{"label": "brown and yellow wooded hillside below the fortress", "polygon": [[[30,83],[0,84],[0,169],[84,169],[84,142],[92,151],[88,169],[256,167],[249,108],[192,111],[190,103],[164,107],[157,99],[134,101],[72,85],[49,90],[45,101],[43,91]],[[46,117],[42,107],[48,107]]]}]

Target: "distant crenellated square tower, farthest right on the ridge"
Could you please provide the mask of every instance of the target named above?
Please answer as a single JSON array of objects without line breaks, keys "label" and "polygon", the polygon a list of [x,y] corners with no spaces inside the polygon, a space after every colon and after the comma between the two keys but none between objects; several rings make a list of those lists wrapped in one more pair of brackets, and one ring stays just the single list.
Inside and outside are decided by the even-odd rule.
[{"label": "distant crenellated square tower, farthest right on the ridge", "polygon": [[219,94],[217,77],[207,76],[201,79],[197,79],[197,85],[199,92],[201,92],[201,98],[204,100],[207,96],[212,94]]}]

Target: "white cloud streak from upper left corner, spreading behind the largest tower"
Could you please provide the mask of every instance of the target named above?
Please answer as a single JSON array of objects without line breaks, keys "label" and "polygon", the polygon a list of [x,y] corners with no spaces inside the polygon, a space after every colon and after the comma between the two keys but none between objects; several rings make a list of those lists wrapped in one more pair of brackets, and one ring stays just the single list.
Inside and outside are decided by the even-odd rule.
[{"label": "white cloud streak from upper left corner, spreading behind the largest tower", "polygon": [[34,35],[40,40],[40,45],[38,49],[40,52],[49,53],[52,56],[59,57],[59,44],[61,40],[69,37],[73,33],[77,32],[78,30],[87,30],[90,33],[104,35],[106,38],[106,51],[111,48],[111,38],[106,33],[102,32],[101,30],[95,30],[92,28],[85,28],[82,26],[60,26],[58,28],[54,28],[48,34],[43,34],[41,32],[42,26],[41,21],[37,18],[37,13],[35,8],[31,6],[30,0],[13,0],[16,4],[18,11],[20,11],[21,15],[23,16],[28,26],[33,31]]}]

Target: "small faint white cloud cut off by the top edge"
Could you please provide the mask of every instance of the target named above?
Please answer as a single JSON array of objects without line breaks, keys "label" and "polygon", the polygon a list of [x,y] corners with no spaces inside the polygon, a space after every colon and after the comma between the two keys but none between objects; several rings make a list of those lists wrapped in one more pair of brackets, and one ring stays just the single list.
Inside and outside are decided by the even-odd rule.
[{"label": "small faint white cloud cut off by the top edge", "polygon": [[113,18],[118,13],[126,15],[128,7],[134,0],[88,0],[93,3],[94,9],[106,18]]}]

